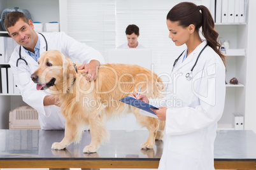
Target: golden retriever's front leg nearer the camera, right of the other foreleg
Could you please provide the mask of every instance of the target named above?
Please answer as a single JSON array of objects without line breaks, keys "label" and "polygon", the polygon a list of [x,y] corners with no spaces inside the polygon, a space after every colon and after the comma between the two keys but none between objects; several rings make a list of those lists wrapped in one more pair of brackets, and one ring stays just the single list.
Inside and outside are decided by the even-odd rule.
[{"label": "golden retriever's front leg nearer the camera, right of the other foreleg", "polygon": [[83,153],[97,152],[99,145],[109,139],[109,133],[106,128],[106,117],[102,115],[101,112],[91,114],[89,124],[91,141],[90,145],[83,148]]}]

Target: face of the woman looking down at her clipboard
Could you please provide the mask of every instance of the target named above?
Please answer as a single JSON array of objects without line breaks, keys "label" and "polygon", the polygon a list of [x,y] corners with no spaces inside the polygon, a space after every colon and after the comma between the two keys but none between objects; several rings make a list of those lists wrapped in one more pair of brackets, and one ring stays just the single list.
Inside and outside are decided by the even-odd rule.
[{"label": "face of the woman looking down at her clipboard", "polygon": [[166,21],[167,28],[169,30],[169,38],[173,40],[176,46],[182,46],[190,37],[190,32],[188,27],[181,27],[178,22],[172,22],[170,20]]}]

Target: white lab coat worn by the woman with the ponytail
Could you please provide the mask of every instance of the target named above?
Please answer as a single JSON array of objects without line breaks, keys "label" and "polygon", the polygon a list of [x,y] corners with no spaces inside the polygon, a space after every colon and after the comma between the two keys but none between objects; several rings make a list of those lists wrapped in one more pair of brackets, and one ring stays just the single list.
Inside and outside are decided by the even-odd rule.
[{"label": "white lab coat worn by the woman with the ponytail", "polygon": [[205,45],[206,41],[197,46],[183,63],[180,57],[166,98],[150,100],[152,105],[167,107],[160,170],[214,169],[213,144],[225,103],[225,66],[207,46],[194,67],[193,79],[185,77]]}]

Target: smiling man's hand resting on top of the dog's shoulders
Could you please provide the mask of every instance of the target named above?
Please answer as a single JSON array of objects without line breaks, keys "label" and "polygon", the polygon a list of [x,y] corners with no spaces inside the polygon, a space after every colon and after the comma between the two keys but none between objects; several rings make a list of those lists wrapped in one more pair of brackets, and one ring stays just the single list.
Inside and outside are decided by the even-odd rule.
[{"label": "smiling man's hand resting on top of the dog's shoulders", "polygon": [[99,61],[97,60],[92,60],[88,64],[82,64],[78,70],[83,70],[83,75],[86,75],[87,81],[95,81],[97,78],[97,73],[99,69]]}]

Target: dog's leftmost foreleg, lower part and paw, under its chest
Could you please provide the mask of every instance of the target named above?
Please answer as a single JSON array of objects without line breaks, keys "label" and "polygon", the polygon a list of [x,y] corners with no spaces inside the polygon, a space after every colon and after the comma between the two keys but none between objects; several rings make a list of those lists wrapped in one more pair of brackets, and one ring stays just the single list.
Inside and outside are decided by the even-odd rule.
[{"label": "dog's leftmost foreleg, lower part and paw, under its chest", "polygon": [[79,126],[80,124],[77,122],[66,119],[64,138],[59,143],[53,143],[52,149],[62,150],[68,147],[73,141],[79,142],[83,133]]}]

